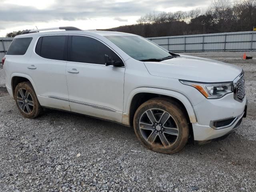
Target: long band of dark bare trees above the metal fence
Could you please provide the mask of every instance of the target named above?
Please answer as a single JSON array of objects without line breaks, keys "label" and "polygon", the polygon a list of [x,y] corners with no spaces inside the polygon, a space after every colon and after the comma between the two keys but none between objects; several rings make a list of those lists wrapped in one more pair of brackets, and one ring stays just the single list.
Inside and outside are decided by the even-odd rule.
[{"label": "long band of dark bare trees above the metal fence", "polygon": [[256,27],[256,0],[213,0],[206,11],[149,13],[137,23],[112,29],[144,37],[251,31]]}]

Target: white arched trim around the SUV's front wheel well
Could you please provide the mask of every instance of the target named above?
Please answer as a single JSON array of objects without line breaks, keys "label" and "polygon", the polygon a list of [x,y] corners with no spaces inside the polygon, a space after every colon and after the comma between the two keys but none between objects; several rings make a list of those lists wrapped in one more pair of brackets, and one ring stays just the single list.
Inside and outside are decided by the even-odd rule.
[{"label": "white arched trim around the SUV's front wheel well", "polygon": [[196,123],[196,114],[194,112],[194,108],[188,98],[184,96],[183,94],[172,91],[172,90],[167,90],[167,89],[160,89],[160,88],[149,88],[149,87],[140,87],[134,89],[132,92],[130,92],[128,99],[126,101],[126,108],[124,109],[124,114],[122,117],[122,124],[129,125],[129,111],[130,111],[130,106],[132,102],[132,98],[138,94],[138,93],[154,93],[154,94],[160,94],[160,95],[165,95],[165,96],[170,96],[173,98],[176,98],[182,102],[182,104],[185,106],[188,116],[190,119],[191,123]]}]

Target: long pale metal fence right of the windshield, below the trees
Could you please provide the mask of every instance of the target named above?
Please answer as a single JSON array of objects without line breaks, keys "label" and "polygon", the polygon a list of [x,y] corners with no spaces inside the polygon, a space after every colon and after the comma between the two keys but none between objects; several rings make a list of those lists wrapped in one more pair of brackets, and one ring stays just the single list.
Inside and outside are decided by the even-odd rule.
[{"label": "long pale metal fence right of the windshield, below the trees", "polygon": [[173,52],[256,51],[256,31],[148,38]]}]

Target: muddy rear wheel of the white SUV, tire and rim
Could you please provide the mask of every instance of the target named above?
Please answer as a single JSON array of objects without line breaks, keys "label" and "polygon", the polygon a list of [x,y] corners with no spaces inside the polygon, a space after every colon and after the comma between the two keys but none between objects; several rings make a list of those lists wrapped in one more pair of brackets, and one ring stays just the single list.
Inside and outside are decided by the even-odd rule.
[{"label": "muddy rear wheel of the white SUV, tire and rim", "polygon": [[42,111],[42,107],[30,82],[21,82],[16,86],[14,100],[20,113],[26,118],[36,118]]}]

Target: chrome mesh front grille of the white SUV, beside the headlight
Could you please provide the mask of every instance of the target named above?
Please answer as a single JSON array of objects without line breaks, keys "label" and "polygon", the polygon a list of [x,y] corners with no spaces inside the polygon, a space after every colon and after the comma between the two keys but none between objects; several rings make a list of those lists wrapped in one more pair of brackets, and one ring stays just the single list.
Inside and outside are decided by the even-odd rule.
[{"label": "chrome mesh front grille of the white SUV, beside the headlight", "polygon": [[234,80],[234,99],[242,102],[245,96],[244,71]]}]

